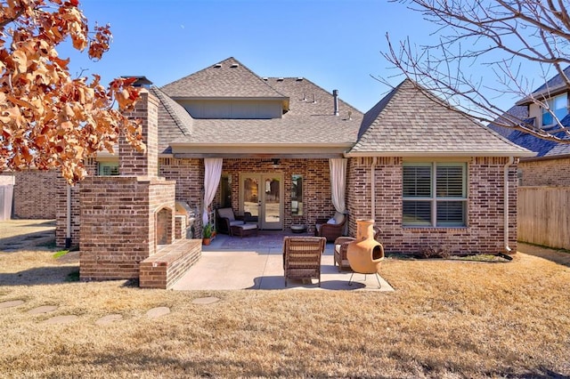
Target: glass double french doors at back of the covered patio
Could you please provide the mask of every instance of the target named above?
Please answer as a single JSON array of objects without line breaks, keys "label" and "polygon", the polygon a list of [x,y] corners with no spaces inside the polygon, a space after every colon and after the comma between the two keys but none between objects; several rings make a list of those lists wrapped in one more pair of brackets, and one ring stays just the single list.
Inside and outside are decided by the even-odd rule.
[{"label": "glass double french doors at back of the covered patio", "polygon": [[259,229],[283,229],[283,174],[241,173],[240,210],[257,216]]}]

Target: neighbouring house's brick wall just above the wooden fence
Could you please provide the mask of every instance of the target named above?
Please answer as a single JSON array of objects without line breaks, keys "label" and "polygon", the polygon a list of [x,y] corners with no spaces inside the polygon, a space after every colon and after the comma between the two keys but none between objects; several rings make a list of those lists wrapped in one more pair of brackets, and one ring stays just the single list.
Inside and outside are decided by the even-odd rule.
[{"label": "neighbouring house's brick wall just above the wooden fence", "polygon": [[570,157],[521,160],[518,168],[523,186],[570,186]]}]

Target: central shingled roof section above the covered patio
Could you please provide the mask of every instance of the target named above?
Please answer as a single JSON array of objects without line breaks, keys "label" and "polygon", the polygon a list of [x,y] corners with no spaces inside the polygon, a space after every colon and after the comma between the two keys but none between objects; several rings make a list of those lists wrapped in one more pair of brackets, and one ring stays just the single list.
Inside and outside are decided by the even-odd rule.
[{"label": "central shingled roof section above the covered patio", "polygon": [[[227,152],[227,146],[265,146],[271,152],[275,146],[292,146],[311,151],[311,146],[330,147],[342,154],[357,138],[362,122],[362,112],[338,99],[339,115],[334,114],[334,97],[320,86],[304,77],[258,77],[234,58],[228,58],[183,77],[156,90],[170,101],[184,99],[272,99],[285,101],[287,109],[279,118],[232,119],[192,118],[183,121],[183,107],[161,98],[169,105],[165,115],[172,117],[161,122],[161,147],[168,144],[176,151],[191,151],[212,147],[210,153]],[[174,99],[174,100],[172,100]],[[174,112],[172,109],[178,109]],[[191,130],[183,131],[180,123],[190,124]],[[181,133],[183,131],[183,133]],[[188,133],[186,133],[188,132]],[[217,148],[216,148],[217,146]],[[187,147],[187,149],[184,149]],[[192,148],[193,147],[193,148]],[[164,150],[168,153],[172,149]]]}]

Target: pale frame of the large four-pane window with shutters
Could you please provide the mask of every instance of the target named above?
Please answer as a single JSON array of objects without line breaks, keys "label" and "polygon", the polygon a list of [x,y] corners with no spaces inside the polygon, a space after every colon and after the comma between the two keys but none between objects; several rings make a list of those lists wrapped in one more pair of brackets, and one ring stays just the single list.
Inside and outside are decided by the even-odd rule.
[{"label": "pale frame of the large four-pane window with shutters", "polygon": [[[468,165],[466,162],[404,162],[403,167],[419,167],[419,166],[429,166],[430,170],[430,195],[428,197],[413,197],[413,196],[404,196],[404,189],[402,190],[402,225],[404,227],[422,227],[422,228],[464,228],[467,227],[468,223]],[[437,167],[450,167],[456,166],[462,168],[461,173],[461,197],[438,197],[436,193],[437,189]],[[402,178],[403,178],[402,173]],[[403,178],[404,181],[404,178]],[[403,214],[403,204],[406,201],[415,201],[415,202],[429,202],[430,204],[430,222],[406,222],[404,220]],[[460,201],[463,203],[462,209],[462,221],[457,223],[452,222],[437,222],[437,207],[439,204],[443,204],[445,202],[458,202]]]}]

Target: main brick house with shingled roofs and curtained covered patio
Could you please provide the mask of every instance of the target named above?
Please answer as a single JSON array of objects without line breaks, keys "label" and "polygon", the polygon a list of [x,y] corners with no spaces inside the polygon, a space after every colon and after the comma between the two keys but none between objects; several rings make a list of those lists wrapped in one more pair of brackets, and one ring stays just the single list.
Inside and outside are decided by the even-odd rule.
[{"label": "main brick house with shingled roofs and curtained covered patio", "polygon": [[[154,195],[148,196],[172,191],[176,201],[205,211],[208,222],[216,208],[231,206],[235,214],[256,215],[263,230],[302,224],[313,232],[317,219],[337,212],[347,214],[349,235],[357,219],[376,220],[387,253],[436,246],[450,254],[516,251],[517,160],[534,154],[410,80],[366,114],[338,91],[329,93],[305,77],[259,77],[234,58],[161,88],[147,87],[134,115],[147,127],[149,149],[142,157],[119,147],[118,157],[86,163],[102,179],[78,186],[84,188],[81,206],[78,189],[68,191],[73,199],[58,212],[59,242],[77,238],[79,230],[89,241],[85,246],[104,239],[92,235],[105,232],[93,220],[125,217],[127,211],[110,212],[102,200],[85,197],[100,190],[128,200],[134,195],[126,189],[110,189],[113,178],[126,183],[123,177],[142,175],[152,176],[144,193]],[[120,176],[104,176],[112,173]],[[158,224],[162,213],[168,224],[173,203],[153,203],[154,215],[144,214],[141,222]],[[81,222],[85,217],[89,221]],[[173,240],[168,230],[165,236]],[[112,246],[118,248],[119,240]],[[115,259],[109,253],[104,261]]]}]

